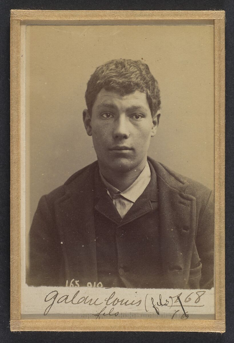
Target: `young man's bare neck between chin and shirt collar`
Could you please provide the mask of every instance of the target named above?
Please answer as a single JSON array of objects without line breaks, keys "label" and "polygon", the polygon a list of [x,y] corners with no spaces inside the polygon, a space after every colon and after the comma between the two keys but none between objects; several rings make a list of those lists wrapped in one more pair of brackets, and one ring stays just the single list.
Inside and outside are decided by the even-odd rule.
[{"label": "young man's bare neck between chin and shirt collar", "polygon": [[130,169],[127,171],[116,171],[116,170],[113,171],[113,170],[104,168],[100,163],[99,163],[99,168],[102,175],[109,182],[109,184],[111,184],[112,186],[114,186],[115,188],[123,192],[125,191],[125,189],[131,186],[131,184],[133,184],[133,182],[138,178],[138,176],[141,174],[142,170],[144,169],[146,162],[147,162],[147,158],[144,161],[142,161],[134,169]]}]

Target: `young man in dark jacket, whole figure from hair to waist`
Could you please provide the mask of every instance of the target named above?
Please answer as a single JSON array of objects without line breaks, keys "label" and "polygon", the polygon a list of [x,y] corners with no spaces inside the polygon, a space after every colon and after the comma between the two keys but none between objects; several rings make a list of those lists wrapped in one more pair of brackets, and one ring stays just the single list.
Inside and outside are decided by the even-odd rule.
[{"label": "young man in dark jacket, whole figure from hair to waist", "polygon": [[161,114],[148,65],[103,64],[85,100],[97,161],[40,199],[27,284],[212,288],[212,192],[148,156]]}]

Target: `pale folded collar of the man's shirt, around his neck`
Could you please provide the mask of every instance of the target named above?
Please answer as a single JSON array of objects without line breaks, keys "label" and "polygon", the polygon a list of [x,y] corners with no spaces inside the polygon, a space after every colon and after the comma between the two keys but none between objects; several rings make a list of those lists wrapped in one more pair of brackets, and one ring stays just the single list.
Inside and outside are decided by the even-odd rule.
[{"label": "pale folded collar of the man's shirt, around his neck", "polygon": [[110,191],[111,194],[121,194],[121,196],[125,199],[131,202],[135,202],[148,186],[151,179],[151,172],[149,163],[147,162],[138,178],[123,192],[120,192],[120,190],[110,185],[109,182],[106,181],[106,179],[101,174],[101,171],[100,176],[104,185],[107,187],[108,191]]}]

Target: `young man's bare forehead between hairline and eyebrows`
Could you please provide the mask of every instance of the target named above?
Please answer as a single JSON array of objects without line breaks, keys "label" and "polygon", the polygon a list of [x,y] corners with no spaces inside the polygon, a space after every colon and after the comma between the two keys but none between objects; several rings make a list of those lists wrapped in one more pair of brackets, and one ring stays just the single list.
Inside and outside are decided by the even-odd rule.
[{"label": "young man's bare forehead between hairline and eyebrows", "polygon": [[115,91],[106,91],[104,88],[102,88],[102,90],[97,94],[93,106],[108,106],[108,104],[113,104],[116,106],[126,104],[149,108],[146,94],[143,92],[136,90],[130,94],[121,95]]}]

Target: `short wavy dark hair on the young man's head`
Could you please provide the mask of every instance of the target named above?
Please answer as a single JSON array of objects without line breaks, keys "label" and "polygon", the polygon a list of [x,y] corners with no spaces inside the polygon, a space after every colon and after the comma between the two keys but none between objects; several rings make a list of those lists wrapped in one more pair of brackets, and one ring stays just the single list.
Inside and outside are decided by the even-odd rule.
[{"label": "short wavy dark hair on the young man's head", "polygon": [[160,109],[160,90],[147,64],[130,59],[116,59],[97,67],[87,83],[85,100],[92,115],[97,94],[104,88],[124,96],[138,90],[147,96],[151,115]]}]

